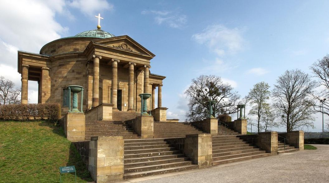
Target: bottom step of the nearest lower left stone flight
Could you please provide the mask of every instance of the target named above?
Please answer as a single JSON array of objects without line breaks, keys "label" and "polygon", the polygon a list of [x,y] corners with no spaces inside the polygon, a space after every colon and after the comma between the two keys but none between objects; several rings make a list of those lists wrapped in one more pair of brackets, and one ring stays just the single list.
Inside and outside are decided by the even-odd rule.
[{"label": "bottom step of the nearest lower left stone flight", "polygon": [[158,175],[158,174],[171,173],[171,172],[181,172],[184,170],[196,169],[197,167],[198,167],[197,165],[185,165],[185,166],[179,166],[179,167],[173,167],[173,168],[158,169],[158,170],[153,170],[153,171],[125,173],[124,179],[138,178],[138,177],[144,177],[144,176],[149,176],[149,175]]}]

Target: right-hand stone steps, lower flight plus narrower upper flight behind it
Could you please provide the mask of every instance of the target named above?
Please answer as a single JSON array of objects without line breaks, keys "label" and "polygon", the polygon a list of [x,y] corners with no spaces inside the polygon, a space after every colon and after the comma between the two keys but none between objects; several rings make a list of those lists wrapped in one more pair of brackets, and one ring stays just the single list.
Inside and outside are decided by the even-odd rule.
[{"label": "right-hand stone steps, lower flight plus narrower upper flight behind it", "polygon": [[213,136],[213,166],[270,155],[237,135],[238,132],[218,123],[218,136]]}]

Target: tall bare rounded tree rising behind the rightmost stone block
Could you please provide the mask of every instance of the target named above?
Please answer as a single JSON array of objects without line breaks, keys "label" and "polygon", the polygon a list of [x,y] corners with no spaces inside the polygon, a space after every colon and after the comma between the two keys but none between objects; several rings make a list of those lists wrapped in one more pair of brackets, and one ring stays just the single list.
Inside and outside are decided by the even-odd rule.
[{"label": "tall bare rounded tree rising behind the rightmost stone block", "polygon": [[276,80],[272,91],[273,106],[281,115],[280,123],[287,127],[287,132],[303,127],[314,128],[314,99],[309,94],[315,86],[316,83],[311,81],[310,76],[298,69],[285,71]]}]

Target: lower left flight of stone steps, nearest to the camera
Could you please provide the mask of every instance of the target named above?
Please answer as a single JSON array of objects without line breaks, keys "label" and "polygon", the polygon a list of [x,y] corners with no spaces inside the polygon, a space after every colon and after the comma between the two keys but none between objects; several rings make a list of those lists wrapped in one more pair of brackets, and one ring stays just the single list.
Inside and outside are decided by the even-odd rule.
[{"label": "lower left flight of stone steps, nearest to the camera", "polygon": [[197,168],[164,139],[124,140],[124,179]]}]

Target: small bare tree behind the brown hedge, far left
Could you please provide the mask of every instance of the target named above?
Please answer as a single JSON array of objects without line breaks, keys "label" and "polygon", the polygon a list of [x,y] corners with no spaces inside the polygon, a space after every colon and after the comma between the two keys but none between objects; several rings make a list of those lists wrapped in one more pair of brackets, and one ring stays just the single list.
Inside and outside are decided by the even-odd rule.
[{"label": "small bare tree behind the brown hedge, far left", "polygon": [[21,89],[14,88],[13,81],[0,76],[0,105],[20,103]]}]

